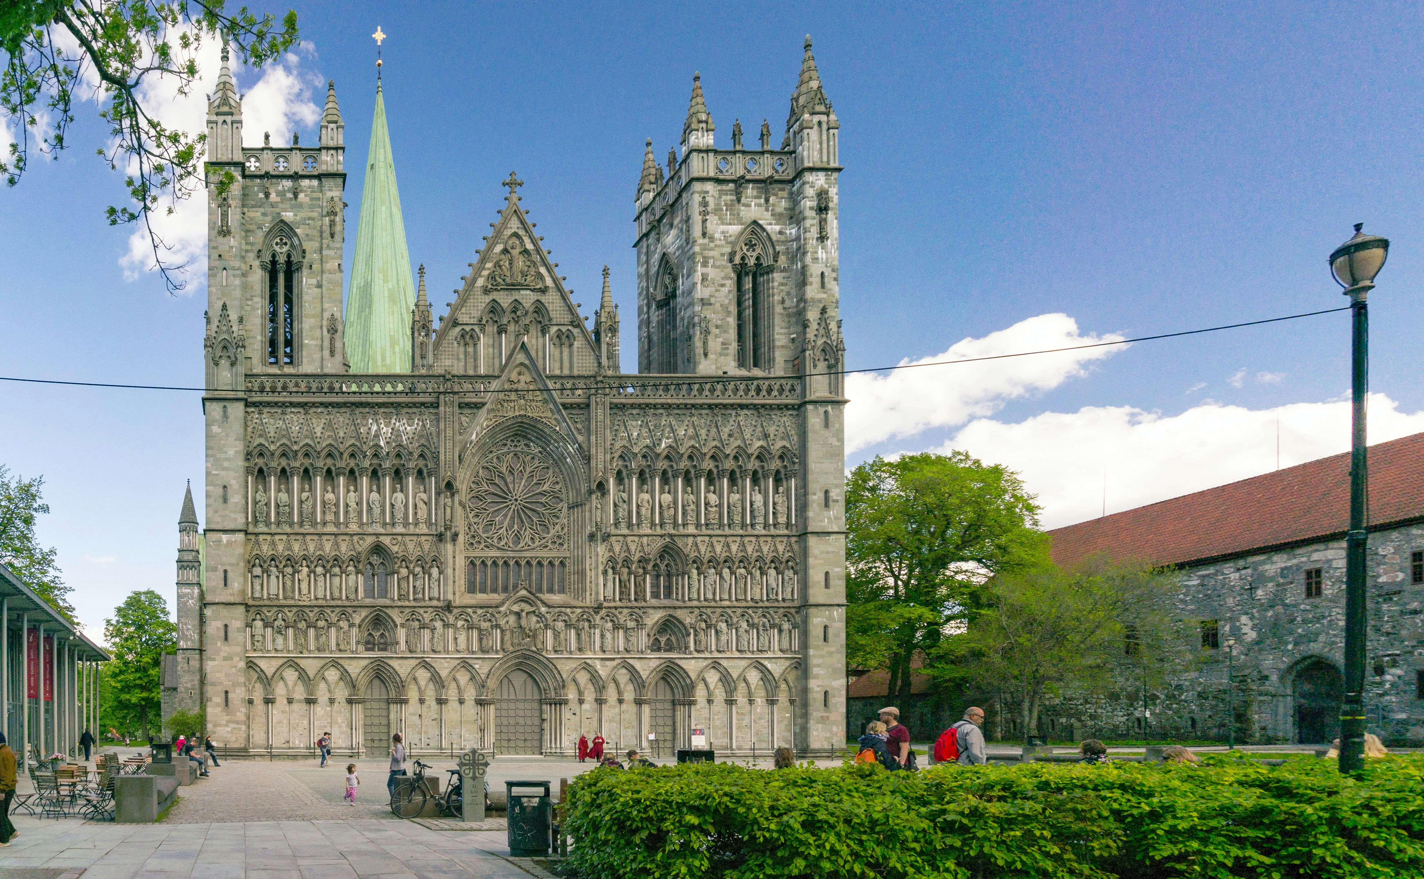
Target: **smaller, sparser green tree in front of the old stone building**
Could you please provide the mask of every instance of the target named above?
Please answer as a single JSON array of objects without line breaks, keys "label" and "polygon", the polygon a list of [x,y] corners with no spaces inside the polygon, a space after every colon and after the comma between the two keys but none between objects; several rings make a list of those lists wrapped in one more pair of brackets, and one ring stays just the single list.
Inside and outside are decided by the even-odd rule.
[{"label": "smaller, sparser green tree in front of the old stone building", "polygon": [[931,672],[1011,695],[1024,735],[1045,697],[1114,681],[1161,681],[1182,657],[1175,583],[1152,568],[1095,558],[1077,571],[1042,566],[994,577],[968,631],[941,644]]}]

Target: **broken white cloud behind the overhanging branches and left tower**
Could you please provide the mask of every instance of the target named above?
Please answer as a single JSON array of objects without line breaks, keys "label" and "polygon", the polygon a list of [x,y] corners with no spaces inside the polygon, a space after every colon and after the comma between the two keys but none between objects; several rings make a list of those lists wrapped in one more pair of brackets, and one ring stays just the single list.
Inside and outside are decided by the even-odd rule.
[{"label": "broken white cloud behind the overhanging branches and left tower", "polygon": [[[150,76],[140,90],[140,101],[165,127],[201,134],[206,128],[208,94],[218,81],[221,51],[221,43],[204,40],[202,48],[197,53],[201,76],[187,95],[178,94],[179,83],[175,77]],[[313,94],[318,93],[322,77],[310,70],[313,58],[315,51],[310,44],[269,61],[261,71],[245,70],[238,58],[232,57],[232,76],[238,81],[239,93],[245,78],[251,80],[252,74],[261,74],[246,90],[242,101],[242,128],[248,135],[246,141],[261,142],[255,138],[266,131],[272,134],[273,144],[290,142],[293,130],[316,124],[320,107],[315,103]],[[169,248],[162,254],[162,259],[172,265],[189,264],[187,292],[195,292],[202,289],[202,264],[208,252],[206,192],[199,187],[189,198],[172,205],[172,214],[167,212],[169,205],[167,198],[161,199],[152,217],[154,229]],[[142,224],[130,235],[128,252],[120,259],[120,265],[128,281],[157,271],[154,249]]]}]

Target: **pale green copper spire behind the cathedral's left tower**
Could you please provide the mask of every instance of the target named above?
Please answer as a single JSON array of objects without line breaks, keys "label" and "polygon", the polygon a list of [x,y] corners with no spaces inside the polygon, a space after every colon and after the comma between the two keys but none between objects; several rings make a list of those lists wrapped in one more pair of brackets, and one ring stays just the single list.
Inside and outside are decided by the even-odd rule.
[{"label": "pale green copper spire behind the cathedral's left tower", "polygon": [[356,227],[356,259],[346,298],[346,356],[352,372],[410,372],[410,309],[414,303],[396,162],[390,155],[386,103],[377,78],[376,118],[370,127],[366,185]]}]

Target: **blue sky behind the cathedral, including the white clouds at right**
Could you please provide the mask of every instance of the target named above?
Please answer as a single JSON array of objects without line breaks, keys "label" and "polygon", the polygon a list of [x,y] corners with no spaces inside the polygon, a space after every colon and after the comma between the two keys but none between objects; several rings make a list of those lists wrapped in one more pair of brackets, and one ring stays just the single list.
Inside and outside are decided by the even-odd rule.
[{"label": "blue sky behind the cathedral, including the white clouds at right", "polygon": [[[437,311],[513,168],[585,313],[611,266],[631,339],[644,140],[666,155],[695,70],[719,144],[736,118],[748,131],[768,118],[779,140],[810,33],[842,124],[852,368],[941,355],[964,339],[977,342],[956,350],[1021,350],[1334,308],[1344,301],[1326,256],[1363,221],[1394,244],[1371,303],[1373,389],[1384,395],[1374,436],[1424,429],[1415,6],[296,10],[305,46],[283,71],[310,91],[283,93],[286,120],[336,80],[352,224],[370,134],[370,33],[379,24],[390,36],[386,108],[410,259],[427,266]],[[249,118],[261,76],[239,73]],[[0,375],[201,383],[202,278],[169,296],[150,274],[125,276],[130,229],[103,219],[121,180],[93,155],[103,130],[91,104],[80,120],[70,151],[0,194]],[[313,124],[296,128],[315,140]],[[246,134],[261,141],[252,123]],[[635,369],[632,345],[624,353]],[[1277,420],[1286,464],[1349,439],[1344,315],[1032,368],[914,372],[914,382],[852,386],[879,396],[852,403],[862,427],[850,463],[967,447],[1020,469],[1047,524],[1269,470]],[[197,396],[16,385],[0,395],[0,463],[46,477],[54,513],[41,539],[60,548],[91,630],[132,588],[171,594],[184,480],[202,477]],[[901,423],[881,416],[928,397],[933,413],[901,419],[899,432],[864,427]]]}]

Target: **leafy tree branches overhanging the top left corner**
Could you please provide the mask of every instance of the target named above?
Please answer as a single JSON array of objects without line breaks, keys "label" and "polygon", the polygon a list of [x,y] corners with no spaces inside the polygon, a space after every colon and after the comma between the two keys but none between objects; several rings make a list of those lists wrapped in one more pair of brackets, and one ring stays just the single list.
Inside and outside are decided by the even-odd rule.
[{"label": "leafy tree branches overhanging the top left corner", "polygon": [[[0,175],[20,182],[31,151],[58,157],[68,144],[74,103],[97,83],[98,115],[108,125],[98,155],[110,168],[122,165],[132,204],[111,205],[110,225],[141,221],[154,262],[169,291],[184,284],[181,265],[164,261],[167,245],[152,225],[152,211],[167,199],[167,212],[205,187],[204,132],[169,128],[145,83],[177,83],[179,95],[198,80],[197,53],[204,40],[225,40],[246,63],[261,67],[298,43],[296,13],[281,23],[271,14],[239,9],[224,0],[6,0],[0,4],[0,110],[19,121]],[[219,195],[232,184],[225,174]]]}]

